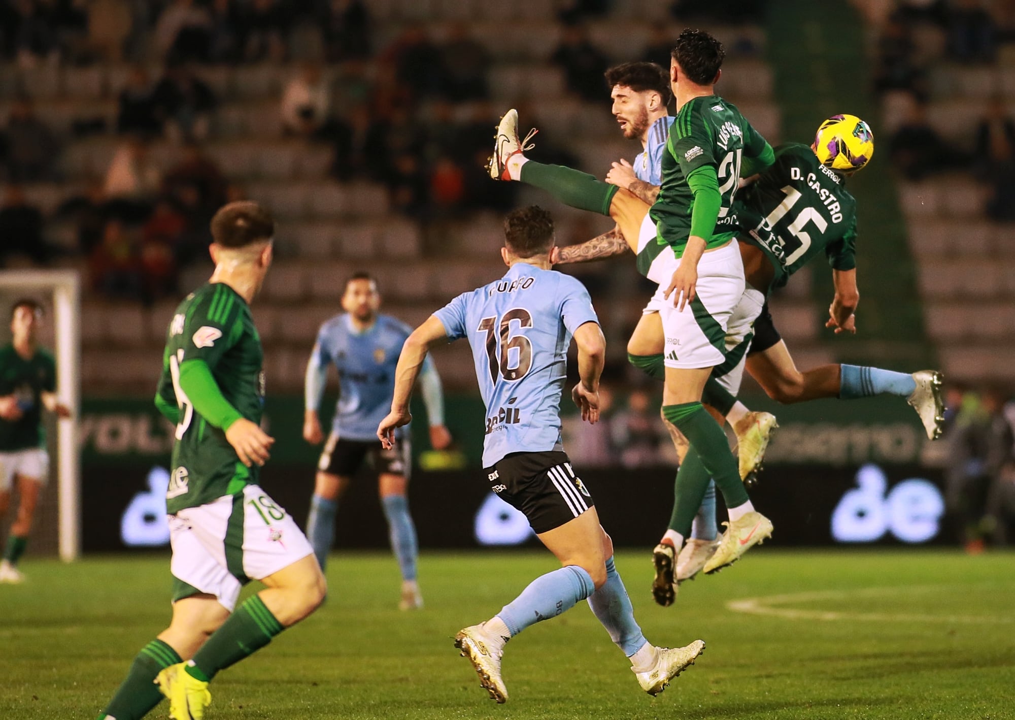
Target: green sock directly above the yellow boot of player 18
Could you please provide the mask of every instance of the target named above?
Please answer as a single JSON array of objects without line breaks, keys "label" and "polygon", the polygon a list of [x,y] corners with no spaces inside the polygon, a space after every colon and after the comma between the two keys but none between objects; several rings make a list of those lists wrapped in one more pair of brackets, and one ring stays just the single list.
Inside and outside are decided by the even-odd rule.
[{"label": "green sock directly above the yellow boot of player 18", "polygon": [[187,672],[207,682],[219,670],[253,655],[284,630],[258,595],[252,595],[187,663]]}]

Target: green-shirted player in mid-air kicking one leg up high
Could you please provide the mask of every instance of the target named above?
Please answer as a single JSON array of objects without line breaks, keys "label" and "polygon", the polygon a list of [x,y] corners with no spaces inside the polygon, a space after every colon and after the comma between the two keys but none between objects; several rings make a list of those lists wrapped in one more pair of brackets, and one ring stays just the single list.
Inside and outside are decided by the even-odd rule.
[{"label": "green-shirted player in mid-air kicking one leg up high", "polygon": [[[745,299],[744,266],[731,214],[741,166],[749,174],[770,165],[771,147],[737,109],[715,94],[725,52],[707,32],[684,30],[672,53],[670,84],[679,114],[662,160],[662,187],[647,214],[646,203],[628,190],[568,168],[530,162],[519,142],[518,114],[501,120],[491,176],[552,188],[568,205],[609,214],[625,239],[636,238],[637,267],[659,288],[628,343],[635,365],[662,354],[665,340],[663,416],[689,441],[675,483],[682,531],[668,532],[679,552],[701,505],[708,477],[715,478],[730,513],[729,530],[712,553],[705,572],[736,562],[771,533],[771,523],[754,511],[726,435],[701,404],[713,369],[725,362],[728,330],[749,331],[760,312]],[[531,134],[528,136],[531,137]],[[528,139],[528,138],[527,138]],[[751,316],[753,314],[753,316]]]}]

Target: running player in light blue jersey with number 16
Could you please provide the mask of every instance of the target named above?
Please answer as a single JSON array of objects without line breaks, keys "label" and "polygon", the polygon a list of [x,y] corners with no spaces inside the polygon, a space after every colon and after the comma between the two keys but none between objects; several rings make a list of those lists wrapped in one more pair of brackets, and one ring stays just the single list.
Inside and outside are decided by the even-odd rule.
[{"label": "running player in light blue jersey with number 16", "polygon": [[484,472],[490,488],[525,513],[539,539],[563,566],[533,581],[492,618],[462,630],[456,647],[498,703],[507,700],[500,676],[504,644],[529,626],[588,599],[610,638],[631,661],[650,695],[663,692],[704,649],[657,648],[646,641],[613,563],[613,546],[560,441],[560,395],[567,347],[578,345],[580,382],[571,398],[582,418],[599,418],[599,377],[605,340],[588,291],[550,269],[553,222],[539,207],[509,213],[501,257],[507,273],[465,292],[435,312],[405,342],[391,413],[378,428],[386,446],[411,419],[409,397],[427,350],[467,337],[486,404]]}]

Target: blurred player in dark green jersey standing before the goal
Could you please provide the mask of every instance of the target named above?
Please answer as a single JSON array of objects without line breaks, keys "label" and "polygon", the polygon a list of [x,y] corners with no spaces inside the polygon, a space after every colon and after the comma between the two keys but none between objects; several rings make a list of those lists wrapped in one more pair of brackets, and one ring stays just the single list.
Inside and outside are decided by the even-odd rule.
[{"label": "blurred player in dark green jersey standing before the goal", "polygon": [[58,417],[70,410],[57,400],[57,366],[39,344],[43,307],[19,300],[10,309],[10,344],[0,347],[0,518],[7,514],[17,483],[18,506],[0,561],[0,583],[17,584],[17,563],[28,544],[39,496],[50,475],[43,409]]}]

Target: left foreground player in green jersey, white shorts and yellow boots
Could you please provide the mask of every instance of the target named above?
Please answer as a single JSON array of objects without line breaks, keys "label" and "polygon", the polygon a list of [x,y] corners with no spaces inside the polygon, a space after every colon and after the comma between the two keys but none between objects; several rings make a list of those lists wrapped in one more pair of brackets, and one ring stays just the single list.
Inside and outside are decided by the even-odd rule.
[{"label": "left foreground player in green jersey, white shorts and yellow boots", "polygon": [[[201,720],[219,670],[324,599],[310,542],[257,484],[274,439],[259,424],[264,354],[249,304],[271,265],[274,231],[253,202],[215,213],[215,271],[170,323],[155,405],[177,423],[166,493],[173,619],[134,658],[99,720],[137,720],[162,696],[171,718]],[[233,612],[251,579],[267,587]]]}]

